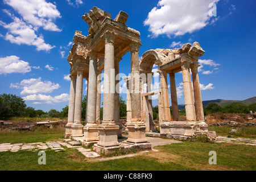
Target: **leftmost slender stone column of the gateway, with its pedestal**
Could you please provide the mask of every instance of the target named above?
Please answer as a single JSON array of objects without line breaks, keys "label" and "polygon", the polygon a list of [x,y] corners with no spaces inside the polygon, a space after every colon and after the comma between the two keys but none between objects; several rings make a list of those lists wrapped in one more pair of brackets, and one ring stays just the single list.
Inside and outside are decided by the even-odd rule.
[{"label": "leftmost slender stone column of the gateway, with its pedestal", "polygon": [[76,97],[76,76],[70,76],[70,92],[69,92],[69,105],[68,105],[68,123],[66,125],[65,137],[69,137],[72,134],[71,126],[74,122],[75,111],[75,97]]}]

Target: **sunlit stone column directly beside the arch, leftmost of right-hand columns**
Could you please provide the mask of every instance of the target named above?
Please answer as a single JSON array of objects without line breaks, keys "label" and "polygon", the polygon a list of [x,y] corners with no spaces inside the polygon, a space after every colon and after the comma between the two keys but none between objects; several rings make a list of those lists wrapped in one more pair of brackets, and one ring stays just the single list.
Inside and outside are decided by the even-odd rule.
[{"label": "sunlit stone column directly beside the arch, leftmost of right-hand columns", "polygon": [[169,92],[168,92],[168,84],[167,84],[167,73],[164,70],[161,70],[158,72],[160,74],[163,122],[170,122],[171,112],[170,112],[170,101],[169,101]]}]

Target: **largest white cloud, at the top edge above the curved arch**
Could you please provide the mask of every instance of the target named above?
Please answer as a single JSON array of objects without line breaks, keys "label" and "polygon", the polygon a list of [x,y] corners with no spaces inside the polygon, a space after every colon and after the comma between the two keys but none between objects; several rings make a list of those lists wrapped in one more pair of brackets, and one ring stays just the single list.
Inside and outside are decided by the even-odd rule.
[{"label": "largest white cloud, at the top edge above the curved arch", "polygon": [[207,26],[209,4],[219,0],[160,0],[144,21],[153,36],[184,35]]}]

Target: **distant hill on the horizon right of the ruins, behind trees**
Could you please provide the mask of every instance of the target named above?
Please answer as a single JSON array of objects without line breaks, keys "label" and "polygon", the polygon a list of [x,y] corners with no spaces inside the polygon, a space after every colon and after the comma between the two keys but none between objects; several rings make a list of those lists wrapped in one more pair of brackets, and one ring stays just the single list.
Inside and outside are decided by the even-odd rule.
[{"label": "distant hill on the horizon right of the ruins, behind trees", "polygon": [[[220,105],[221,107],[222,107],[222,106],[225,106],[225,105],[227,105],[227,104],[230,104],[230,103],[232,103],[232,102],[242,102],[242,104],[249,105],[249,104],[254,104],[254,103],[256,103],[256,97],[251,97],[251,98],[248,98],[248,99],[243,100],[243,101],[222,100],[222,99],[210,100],[210,101],[203,101],[203,106],[207,106],[210,102],[215,102],[215,103],[217,103],[218,105]],[[179,109],[179,110],[184,109],[184,108],[185,108],[185,105],[184,105],[184,104],[178,105],[178,109]]]}]

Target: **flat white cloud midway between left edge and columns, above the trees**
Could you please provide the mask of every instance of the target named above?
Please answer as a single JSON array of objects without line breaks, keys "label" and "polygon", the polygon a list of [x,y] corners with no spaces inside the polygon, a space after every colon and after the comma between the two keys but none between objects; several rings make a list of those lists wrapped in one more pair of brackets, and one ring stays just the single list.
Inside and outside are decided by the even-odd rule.
[{"label": "flat white cloud midway between left edge and columns, above the trees", "polygon": [[36,94],[36,93],[51,93],[53,90],[59,89],[59,84],[54,84],[51,81],[42,81],[42,78],[31,78],[22,80],[20,83],[11,84],[10,88],[23,89],[20,94]]}]

